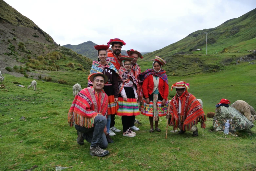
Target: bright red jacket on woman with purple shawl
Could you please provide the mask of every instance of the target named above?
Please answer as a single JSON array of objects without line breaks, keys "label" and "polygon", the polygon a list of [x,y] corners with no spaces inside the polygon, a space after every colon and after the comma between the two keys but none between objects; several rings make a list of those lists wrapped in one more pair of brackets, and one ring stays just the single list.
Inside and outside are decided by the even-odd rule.
[{"label": "bright red jacket on woman with purple shawl", "polygon": [[[142,90],[145,98],[148,98],[148,94],[153,93],[154,88],[154,80],[153,75],[148,76],[142,84]],[[158,91],[161,94],[161,96],[167,100],[168,94],[169,94],[169,85],[162,79],[159,78],[159,84],[158,84]]]}]

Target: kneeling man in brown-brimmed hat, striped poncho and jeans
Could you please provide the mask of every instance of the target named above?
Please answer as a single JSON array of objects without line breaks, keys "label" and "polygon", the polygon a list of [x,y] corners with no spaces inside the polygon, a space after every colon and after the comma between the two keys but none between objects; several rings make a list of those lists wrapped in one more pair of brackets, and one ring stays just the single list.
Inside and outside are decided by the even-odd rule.
[{"label": "kneeling man in brown-brimmed hat, striped poncho and jeans", "polygon": [[108,147],[106,138],[108,95],[102,90],[108,82],[108,77],[102,73],[89,76],[91,87],[81,90],[74,98],[69,109],[69,126],[75,125],[77,130],[77,143],[84,144],[84,140],[91,143],[91,156],[105,156],[109,152],[102,148]]}]

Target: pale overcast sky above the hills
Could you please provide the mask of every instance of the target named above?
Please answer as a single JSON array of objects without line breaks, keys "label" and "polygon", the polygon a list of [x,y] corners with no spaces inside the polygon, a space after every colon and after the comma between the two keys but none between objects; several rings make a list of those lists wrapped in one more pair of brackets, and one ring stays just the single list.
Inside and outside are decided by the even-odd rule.
[{"label": "pale overcast sky above the hills", "polygon": [[120,38],[123,50],[152,52],[256,7],[256,0],[4,0],[57,44]]}]

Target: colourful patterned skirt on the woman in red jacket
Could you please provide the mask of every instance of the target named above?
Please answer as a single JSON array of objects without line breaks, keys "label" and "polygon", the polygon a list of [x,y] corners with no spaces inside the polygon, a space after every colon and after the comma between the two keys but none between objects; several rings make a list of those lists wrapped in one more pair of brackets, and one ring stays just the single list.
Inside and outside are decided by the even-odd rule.
[{"label": "colourful patterned skirt on the woman in red jacket", "polygon": [[163,97],[160,94],[148,94],[149,104],[146,103],[145,97],[140,105],[141,114],[153,117],[154,121],[158,121],[158,117],[165,116],[167,114],[168,100],[166,104],[162,106]]}]

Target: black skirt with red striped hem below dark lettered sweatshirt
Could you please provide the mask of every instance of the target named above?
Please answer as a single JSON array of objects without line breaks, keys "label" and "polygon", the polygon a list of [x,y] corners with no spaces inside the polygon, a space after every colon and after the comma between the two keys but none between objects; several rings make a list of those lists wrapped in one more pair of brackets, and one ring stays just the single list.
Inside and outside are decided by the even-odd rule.
[{"label": "black skirt with red striped hem below dark lettered sweatshirt", "polygon": [[108,115],[116,114],[118,110],[118,103],[115,102],[114,87],[112,85],[105,85],[103,90],[108,95]]}]

